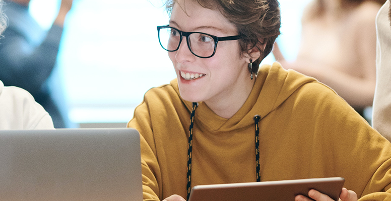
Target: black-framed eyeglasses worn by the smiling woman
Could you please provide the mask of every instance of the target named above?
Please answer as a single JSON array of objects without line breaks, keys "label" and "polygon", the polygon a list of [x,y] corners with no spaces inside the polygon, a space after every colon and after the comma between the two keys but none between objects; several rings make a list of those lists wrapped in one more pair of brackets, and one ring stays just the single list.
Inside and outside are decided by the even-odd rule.
[{"label": "black-framed eyeglasses worn by the smiling woman", "polygon": [[240,35],[217,37],[202,32],[183,32],[168,25],[158,26],[157,29],[159,43],[163,49],[169,52],[177,51],[183,36],[185,36],[190,52],[200,58],[210,58],[215,55],[219,41],[232,41],[241,38]]}]

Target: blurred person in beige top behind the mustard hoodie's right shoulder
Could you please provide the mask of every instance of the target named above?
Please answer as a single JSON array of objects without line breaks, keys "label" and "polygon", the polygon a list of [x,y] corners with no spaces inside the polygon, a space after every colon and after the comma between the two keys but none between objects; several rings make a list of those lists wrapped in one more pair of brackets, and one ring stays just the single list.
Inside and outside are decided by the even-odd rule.
[{"label": "blurred person in beige top behind the mustard hoodie's right shoulder", "polygon": [[[286,69],[315,77],[337,91],[359,114],[372,106],[376,82],[375,18],[385,0],[314,0],[302,16],[295,61],[278,46],[276,60]],[[284,45],[284,44],[282,44]]]}]

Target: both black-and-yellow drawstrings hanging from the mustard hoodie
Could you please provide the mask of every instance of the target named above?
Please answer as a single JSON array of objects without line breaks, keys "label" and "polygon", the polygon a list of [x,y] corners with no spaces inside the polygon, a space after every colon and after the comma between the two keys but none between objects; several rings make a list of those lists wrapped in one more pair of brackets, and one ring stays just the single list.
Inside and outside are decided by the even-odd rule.
[{"label": "both black-and-yellow drawstrings hanging from the mustard hoodie", "polygon": [[[198,103],[193,103],[190,114],[190,126],[189,126],[189,138],[188,138],[188,148],[187,148],[187,196],[186,200],[190,197],[191,190],[191,155],[192,155],[192,146],[193,146],[193,125],[194,125],[194,114],[196,114]],[[259,120],[260,116],[255,115],[253,117],[255,125],[255,168],[256,168],[256,181],[260,181],[260,163],[259,163]]]}]

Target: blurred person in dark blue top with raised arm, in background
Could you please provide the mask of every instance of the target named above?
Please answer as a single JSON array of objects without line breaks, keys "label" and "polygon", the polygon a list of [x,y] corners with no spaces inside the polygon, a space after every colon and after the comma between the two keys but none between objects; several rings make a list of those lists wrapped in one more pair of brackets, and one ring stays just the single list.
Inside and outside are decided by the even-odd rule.
[{"label": "blurred person in dark blue top with raised arm, in background", "polygon": [[9,20],[0,46],[0,80],[5,85],[29,91],[50,114],[55,128],[67,128],[71,123],[66,104],[55,103],[55,100],[63,101],[64,98],[53,95],[62,95],[58,75],[53,68],[64,20],[73,0],[61,1],[58,15],[48,32],[29,14],[29,3],[30,0],[5,1],[4,13]]}]

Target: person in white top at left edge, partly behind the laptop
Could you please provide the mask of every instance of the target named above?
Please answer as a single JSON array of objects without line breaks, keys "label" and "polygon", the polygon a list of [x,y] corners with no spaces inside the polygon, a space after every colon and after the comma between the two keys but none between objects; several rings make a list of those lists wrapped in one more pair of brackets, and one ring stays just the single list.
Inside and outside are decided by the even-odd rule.
[{"label": "person in white top at left edge, partly behind the laptop", "polygon": [[[6,28],[6,16],[3,14],[3,1],[0,0],[0,46],[1,37]],[[1,72],[0,72],[1,74]],[[49,114],[35,102],[26,90],[5,87],[0,80],[0,130],[5,129],[54,129]]]}]

